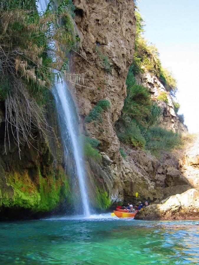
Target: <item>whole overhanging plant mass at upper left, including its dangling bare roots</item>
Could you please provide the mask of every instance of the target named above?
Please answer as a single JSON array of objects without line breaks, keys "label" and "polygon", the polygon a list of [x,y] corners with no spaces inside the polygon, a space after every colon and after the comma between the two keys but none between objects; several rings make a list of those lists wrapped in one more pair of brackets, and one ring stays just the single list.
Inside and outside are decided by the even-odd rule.
[{"label": "whole overhanging plant mass at upper left, including its dangling bare roots", "polygon": [[63,75],[67,54],[76,44],[72,0],[50,1],[44,14],[38,14],[36,2],[0,3],[0,100],[6,101],[5,127],[10,125],[18,146],[35,138],[35,128],[48,134],[43,109],[50,103],[54,79],[59,81]]}]

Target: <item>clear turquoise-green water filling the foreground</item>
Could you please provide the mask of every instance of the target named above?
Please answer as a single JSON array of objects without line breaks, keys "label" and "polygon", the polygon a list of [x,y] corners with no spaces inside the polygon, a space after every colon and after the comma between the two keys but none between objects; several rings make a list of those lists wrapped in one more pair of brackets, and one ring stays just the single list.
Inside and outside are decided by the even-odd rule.
[{"label": "clear turquoise-green water filling the foreground", "polygon": [[0,223],[0,264],[199,264],[198,221],[109,214]]}]

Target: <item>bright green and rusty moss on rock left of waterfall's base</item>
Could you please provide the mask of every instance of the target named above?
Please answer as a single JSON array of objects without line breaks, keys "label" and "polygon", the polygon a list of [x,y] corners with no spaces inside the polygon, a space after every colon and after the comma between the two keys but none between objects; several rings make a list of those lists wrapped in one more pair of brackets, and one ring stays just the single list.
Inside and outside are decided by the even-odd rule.
[{"label": "bright green and rusty moss on rock left of waterfall's base", "polygon": [[71,203],[68,179],[63,170],[43,178],[38,169],[38,178],[32,181],[27,171],[6,175],[6,182],[13,194],[1,194],[0,206],[31,209],[33,212],[52,211],[60,202]]}]

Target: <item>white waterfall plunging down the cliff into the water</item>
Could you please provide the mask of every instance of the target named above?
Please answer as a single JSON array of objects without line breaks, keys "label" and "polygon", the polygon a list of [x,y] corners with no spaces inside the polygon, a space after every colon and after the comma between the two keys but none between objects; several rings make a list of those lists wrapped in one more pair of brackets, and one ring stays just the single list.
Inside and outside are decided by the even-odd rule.
[{"label": "white waterfall plunging down the cliff into the water", "polygon": [[[38,1],[37,10],[39,13],[45,11],[48,2],[49,1],[47,0]],[[60,119],[60,130],[61,130],[65,155],[67,156],[68,154],[68,145],[67,145],[68,141],[65,138],[68,136],[69,138],[68,140],[70,142],[71,150],[73,152],[73,157],[75,160],[76,173],[79,180],[79,188],[83,203],[84,215],[88,217],[90,215],[90,212],[88,206],[88,197],[85,188],[85,171],[81,155],[81,147],[78,143],[78,123],[75,120],[72,108],[74,102],[72,102],[72,98],[68,90],[68,85],[64,80],[54,85],[52,93],[55,97],[56,108]]]}]

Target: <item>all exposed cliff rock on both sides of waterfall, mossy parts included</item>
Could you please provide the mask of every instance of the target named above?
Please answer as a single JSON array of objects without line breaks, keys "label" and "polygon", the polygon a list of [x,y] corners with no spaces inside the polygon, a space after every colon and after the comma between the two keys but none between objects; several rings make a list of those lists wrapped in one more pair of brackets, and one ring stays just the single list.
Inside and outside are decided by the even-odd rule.
[{"label": "all exposed cliff rock on both sides of waterfall, mossy parts included", "polygon": [[[99,141],[101,152],[98,163],[92,159],[85,162],[91,206],[104,210],[116,203],[134,203],[136,192],[139,192],[139,200],[159,203],[170,195],[192,188],[195,184],[183,172],[192,163],[190,161],[184,167],[178,166],[179,161],[166,154],[161,162],[150,153],[128,146],[124,146],[128,150],[126,158],[119,152],[120,142],[114,124],[124,105],[126,77],[134,54],[134,1],[74,0],[73,3],[80,44],[71,54],[70,71],[83,74],[85,78],[83,85],[71,86],[71,92],[78,107],[82,131]],[[169,93],[157,77],[144,72],[137,76],[137,82],[149,88],[152,99],[161,107],[161,126],[174,132],[185,132],[187,129],[179,122]],[[166,93],[167,102],[158,100],[162,92]],[[99,100],[108,100],[110,108],[102,111],[100,119],[85,122],[85,117],[94,112]],[[53,99],[47,120],[54,128],[55,138],[45,140],[35,130],[36,141],[32,146],[21,147],[21,160],[14,140],[11,140],[7,155],[4,152],[4,104],[1,112],[1,216],[16,216],[19,211],[30,212],[30,215],[49,212],[63,202],[70,210],[73,197],[62,160]],[[192,165],[195,166],[194,162]]]}]

